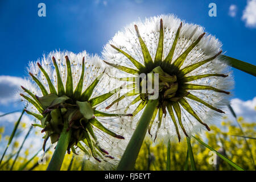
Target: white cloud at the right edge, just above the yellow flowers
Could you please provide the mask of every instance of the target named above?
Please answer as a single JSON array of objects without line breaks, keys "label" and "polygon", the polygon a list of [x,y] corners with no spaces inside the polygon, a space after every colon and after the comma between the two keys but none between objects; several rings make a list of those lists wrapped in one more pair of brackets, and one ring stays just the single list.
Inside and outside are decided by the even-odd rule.
[{"label": "white cloud at the right edge, just above the yellow flowers", "polygon": [[[256,97],[253,100],[242,101],[239,98],[234,98],[230,101],[237,117],[243,117],[246,122],[256,122]],[[233,117],[229,112],[230,117]]]}]

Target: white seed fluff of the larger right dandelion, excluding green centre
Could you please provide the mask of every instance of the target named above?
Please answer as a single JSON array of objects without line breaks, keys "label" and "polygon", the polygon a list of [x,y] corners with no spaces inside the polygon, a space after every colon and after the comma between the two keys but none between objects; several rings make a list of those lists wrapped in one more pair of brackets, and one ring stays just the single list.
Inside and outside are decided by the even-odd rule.
[{"label": "white seed fluff of the larger right dandelion, excluding green centre", "polygon": [[[218,59],[218,54],[221,51],[222,43],[217,38],[215,38],[215,36],[208,33],[205,34],[204,27],[197,24],[186,23],[184,20],[180,20],[175,15],[159,15],[147,18],[145,20],[138,20],[138,22],[133,22],[129,26],[123,28],[122,31],[117,32],[113,39],[105,45],[104,51],[102,51],[102,55],[107,63],[117,65],[116,68],[118,69],[115,69],[115,72],[109,72],[109,74],[112,74],[114,77],[120,78],[134,75],[119,69],[118,66],[120,65],[138,70],[139,73],[149,73],[151,70],[142,71],[142,69],[137,68],[136,65],[134,65],[129,59],[129,57],[125,56],[121,51],[125,51],[127,55],[133,57],[133,59],[137,60],[146,68],[150,67],[150,64],[146,63],[146,60],[144,60],[143,51],[141,48],[142,46],[138,37],[141,36],[153,62],[155,63],[155,57],[160,38],[160,20],[163,22],[162,60],[161,63],[156,65],[153,65],[152,63],[153,66],[151,66],[152,68],[155,68],[160,65],[160,67],[164,70],[164,72],[168,73],[168,75],[177,76],[178,89],[176,91],[175,97],[177,97],[177,93],[181,92],[182,90],[182,92],[189,92],[189,94],[193,94],[193,96],[208,104],[207,106],[205,103],[202,104],[198,100],[196,101],[195,97],[191,99],[187,96],[182,96],[181,98],[185,100],[183,100],[183,102],[187,102],[192,110],[195,111],[195,114],[192,115],[189,113],[189,109],[185,109],[183,107],[184,103],[183,105],[180,104],[181,98],[177,99],[177,101],[170,101],[165,99],[168,103],[170,103],[170,105],[173,105],[174,102],[179,103],[179,106],[175,107],[180,107],[180,121],[187,135],[191,136],[200,134],[203,130],[206,130],[206,128],[204,125],[202,125],[202,123],[198,121],[198,119],[195,118],[195,115],[197,115],[199,119],[207,125],[214,123],[213,121],[216,121],[216,118],[221,117],[221,111],[218,109],[224,109],[224,107],[229,103],[228,98],[230,94],[228,94],[228,92],[222,91],[230,90],[233,88],[232,72],[230,71],[228,65]],[[138,27],[138,34],[134,28],[134,25],[137,25]],[[168,64],[164,65],[163,62],[167,59],[167,56],[170,53],[172,46],[174,45],[178,30],[180,30],[179,37],[177,38],[172,59]],[[195,44],[196,41],[197,43]],[[193,46],[193,44],[195,44],[195,46]],[[117,48],[113,48],[112,45],[118,49],[121,49],[121,51],[118,51]],[[187,55],[183,58],[180,58],[181,55],[183,55],[183,53],[190,47],[192,47],[192,49],[189,50]],[[179,58],[180,60],[176,63],[180,62],[181,64],[177,64],[179,65],[179,68],[176,69],[175,67],[177,67],[177,65],[175,65],[175,61]],[[204,60],[208,61],[192,69],[191,71],[184,71],[185,69],[188,69],[189,66],[200,63]],[[183,72],[185,72],[185,74],[183,74]],[[202,75],[208,76],[195,79],[196,76]],[[184,81],[184,77],[185,79],[190,77],[191,81]],[[185,88],[183,87],[183,84],[190,84],[190,86]],[[193,85],[208,86],[208,88],[198,89]],[[124,101],[121,101],[123,107],[129,106],[128,111],[130,112],[138,109],[138,105],[141,103],[141,101],[137,102],[136,104],[129,105],[129,103],[134,101],[137,96],[138,95],[125,97]],[[159,103],[161,102],[162,101],[159,99]],[[162,104],[159,105],[161,106]],[[181,138],[184,138],[185,134],[183,129],[181,129],[181,125],[179,124],[179,118],[177,117],[177,113],[174,110],[174,106],[172,111],[174,112],[174,118],[177,122],[179,135]],[[136,116],[134,116],[133,124],[131,124],[131,130],[134,130],[137,126],[137,121],[142,113],[143,109],[139,111]],[[166,117],[163,115],[162,123],[159,129],[158,115],[159,111],[156,114],[155,121],[152,124],[150,133],[154,135],[157,133],[159,139],[164,138],[166,141],[168,141],[168,139],[177,141],[177,131],[174,122],[172,122],[173,119],[171,118],[170,113],[167,111]],[[155,139],[155,136],[152,136],[151,138]]]}]

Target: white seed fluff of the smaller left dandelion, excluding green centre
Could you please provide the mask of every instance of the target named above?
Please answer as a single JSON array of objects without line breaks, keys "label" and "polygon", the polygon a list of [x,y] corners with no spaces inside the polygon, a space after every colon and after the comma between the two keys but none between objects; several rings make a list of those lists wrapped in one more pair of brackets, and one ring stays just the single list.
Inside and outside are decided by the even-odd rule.
[{"label": "white seed fluff of the smaller left dandelion, excluding green centre", "polygon": [[[108,93],[110,92],[110,89],[112,89],[110,87],[111,81],[113,80],[110,76],[106,75],[104,73],[105,70],[105,65],[102,65],[102,60],[98,55],[89,55],[88,53],[86,53],[85,51],[81,52],[81,53],[73,53],[73,52],[68,52],[68,51],[53,51],[51,53],[49,53],[48,55],[43,55],[42,59],[39,59],[36,62],[31,61],[28,64],[28,72],[30,73],[30,77],[27,77],[26,79],[24,79],[24,81],[21,83],[22,87],[19,90],[19,93],[22,93],[22,100],[25,101],[24,104],[28,104],[26,107],[26,111],[28,114],[34,113],[37,115],[40,115],[40,117],[42,118],[46,118],[49,114],[47,114],[47,109],[50,109],[49,112],[51,112],[51,108],[49,106],[45,107],[45,106],[41,106],[42,102],[40,102],[40,98],[44,98],[45,94],[43,93],[42,88],[40,88],[40,85],[35,81],[36,79],[43,85],[44,89],[46,89],[46,92],[48,94],[46,94],[46,96],[49,96],[51,93],[52,94],[52,90],[50,89],[51,84],[49,84],[49,80],[51,81],[54,89],[56,90],[57,93],[56,97],[61,97],[63,94],[67,95],[67,80],[69,79],[68,76],[68,68],[67,68],[67,59],[70,61],[70,65],[71,65],[71,77],[72,77],[72,84],[73,84],[73,94],[71,96],[69,96],[69,100],[67,100],[67,102],[63,102],[61,103],[64,104],[63,106],[59,107],[57,106],[54,110],[59,109],[61,114],[64,115],[68,113],[68,111],[65,110],[61,110],[61,108],[65,108],[69,111],[72,111],[73,108],[77,108],[78,105],[76,105],[76,101],[80,101],[80,102],[88,102],[92,105],[92,102],[90,102],[89,98],[96,98],[98,96],[102,96],[102,94]],[[64,93],[62,93],[60,95],[60,90],[59,90],[59,82],[58,82],[58,74],[57,74],[57,69],[56,69],[56,65],[54,64],[54,61],[56,61],[56,65],[57,65],[57,69],[59,69],[59,75],[60,75],[60,79],[61,82],[63,84],[63,88],[64,88]],[[84,60],[84,75],[82,75],[82,68],[83,68],[83,60]],[[49,78],[47,78],[46,74],[40,70],[42,67],[43,70],[46,72],[46,74],[48,75]],[[103,75],[102,75],[103,74]],[[47,80],[49,79],[49,80]],[[80,84],[80,80],[82,79],[82,89],[81,89],[81,93],[79,97],[75,96],[75,93],[77,92],[77,87]],[[97,80],[100,84],[96,84],[96,86],[93,88],[92,93],[90,96],[88,96],[88,94],[85,94],[85,96],[88,96],[89,98],[83,98],[82,97],[82,93],[85,93],[85,90],[87,90],[89,88],[89,86],[91,86],[93,84],[93,82]],[[105,107],[112,102],[112,99],[115,98],[114,96],[115,94],[113,94],[113,97],[109,97],[108,100],[103,100],[101,102],[99,102],[99,104],[93,106],[93,111],[94,114],[97,111],[106,113]],[[32,101],[31,101],[32,100]],[[88,101],[89,100],[89,101]],[[29,101],[29,102],[27,102]],[[39,103],[39,106],[36,107],[36,103]],[[68,105],[65,106],[65,104],[69,104],[72,105],[71,107],[69,107]],[[75,106],[75,107],[74,107]],[[42,107],[42,108],[41,108]],[[108,114],[114,114],[114,113],[118,113],[118,109],[114,109],[114,110],[109,110],[107,113]],[[31,113],[30,113],[31,112]],[[67,114],[68,115],[68,114]],[[80,113],[81,115],[81,113]],[[68,116],[71,116],[68,115]],[[85,120],[85,123],[83,124],[79,124],[79,122],[84,122],[81,121],[80,119],[82,119],[82,116],[79,116],[78,120],[73,121],[74,125],[77,125],[77,127],[73,129],[73,125],[69,126],[72,129],[72,139],[76,139],[76,141],[72,140],[69,142],[69,147],[72,147],[72,143],[71,142],[75,142],[73,144],[77,144],[77,142],[83,142],[84,140],[87,140],[88,137],[83,137],[84,134],[84,130],[86,130],[86,132],[88,132],[88,128],[87,126],[91,123],[91,120]],[[98,123],[101,123],[102,127],[105,127],[107,130],[112,131],[114,134],[118,134],[118,135],[124,135],[125,134],[125,126],[122,125],[121,122],[119,122],[119,120],[122,118],[122,116],[118,115],[118,116],[107,116],[103,115],[103,116],[93,116],[92,117],[94,120],[97,119]],[[42,119],[41,119],[41,123],[42,123]],[[48,122],[51,122],[48,120]],[[55,122],[53,120],[53,122]],[[48,126],[47,124],[43,124],[42,126]],[[69,125],[70,125],[70,121],[69,121]],[[90,146],[88,146],[88,144],[82,144],[82,146],[89,151],[89,154],[86,154],[86,159],[90,160],[91,162],[99,165],[99,167],[101,167],[102,169],[106,169],[106,167],[114,167],[117,163],[118,160],[121,158],[122,156],[122,152],[124,151],[124,148],[127,144],[127,140],[123,140],[123,139],[118,139],[113,137],[114,134],[112,134],[113,136],[109,135],[109,133],[106,133],[106,131],[102,131],[102,127],[98,128],[92,124],[90,124],[90,126],[92,126],[93,132],[95,137],[97,138],[97,140],[94,138],[93,134],[90,133],[90,138],[92,139],[93,142],[93,146],[95,147],[94,150],[97,150],[100,155],[96,156],[96,154],[94,154],[92,152],[92,148]],[[84,130],[82,130],[82,127],[85,127]],[[69,129],[69,130],[71,130]],[[44,127],[44,129],[42,131],[46,130],[46,133],[48,132],[47,130],[49,130],[47,127]],[[53,131],[52,131],[53,130]],[[58,131],[59,129],[53,128],[51,129],[51,132],[53,132],[55,135],[59,135],[60,131]],[[78,133],[80,132],[80,133]],[[77,134],[76,134],[77,133]],[[89,133],[89,132],[88,132]],[[49,136],[49,135],[48,135]],[[77,137],[79,137],[79,139]],[[55,143],[54,138],[51,138],[52,142]],[[89,141],[89,140],[88,140]],[[98,148],[98,146],[100,145],[100,147],[102,147],[105,151],[108,152],[108,154],[105,154],[104,152],[102,152],[100,150],[100,148]],[[84,154],[84,152],[80,152],[82,154]],[[112,157],[113,156],[113,157]],[[97,158],[101,160],[101,163],[99,163],[97,160],[95,160],[94,158]]]}]

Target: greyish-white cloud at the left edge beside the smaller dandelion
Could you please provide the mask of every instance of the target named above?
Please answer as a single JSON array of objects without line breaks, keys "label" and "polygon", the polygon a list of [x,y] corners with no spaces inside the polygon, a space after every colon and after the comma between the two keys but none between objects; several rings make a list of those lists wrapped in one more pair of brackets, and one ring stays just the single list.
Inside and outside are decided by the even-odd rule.
[{"label": "greyish-white cloud at the left edge beside the smaller dandelion", "polygon": [[18,100],[18,90],[23,79],[14,76],[0,76],[0,104],[7,105]]}]

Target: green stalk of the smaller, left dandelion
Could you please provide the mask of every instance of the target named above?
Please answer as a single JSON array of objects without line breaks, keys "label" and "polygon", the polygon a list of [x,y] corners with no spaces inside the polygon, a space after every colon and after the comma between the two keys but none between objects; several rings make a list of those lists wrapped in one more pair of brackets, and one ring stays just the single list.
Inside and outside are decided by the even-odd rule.
[{"label": "green stalk of the smaller, left dandelion", "polygon": [[71,130],[68,130],[68,122],[64,122],[63,131],[60,134],[59,141],[56,149],[52,155],[52,159],[49,162],[47,171],[60,171],[61,165],[64,160],[64,156],[68,149],[68,143],[71,138]]}]

